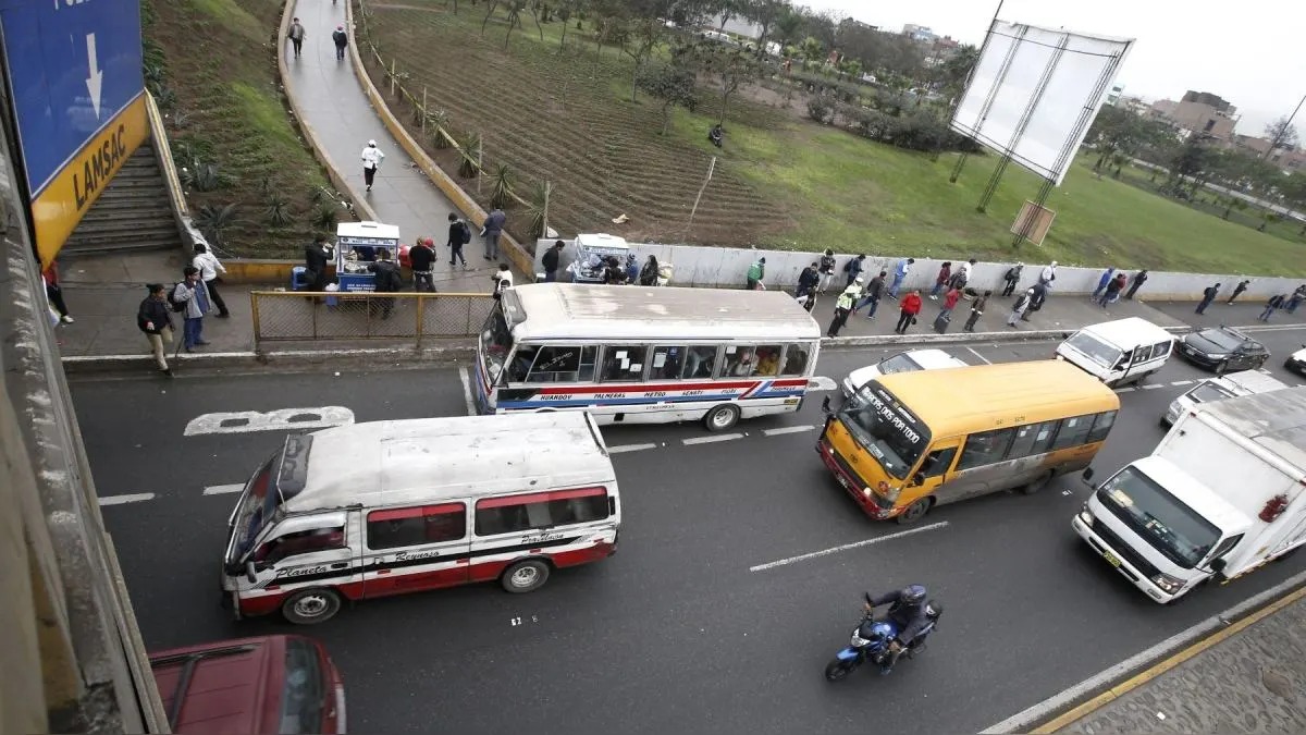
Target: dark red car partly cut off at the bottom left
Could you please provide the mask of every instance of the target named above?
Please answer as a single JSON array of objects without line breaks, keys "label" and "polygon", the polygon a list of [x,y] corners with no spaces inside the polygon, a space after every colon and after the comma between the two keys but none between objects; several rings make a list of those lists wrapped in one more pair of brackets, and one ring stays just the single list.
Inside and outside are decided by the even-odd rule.
[{"label": "dark red car partly cut off at the bottom left", "polygon": [[345,684],[303,636],[222,641],[150,654],[172,732],[345,732]]}]

